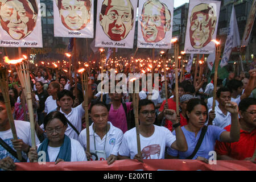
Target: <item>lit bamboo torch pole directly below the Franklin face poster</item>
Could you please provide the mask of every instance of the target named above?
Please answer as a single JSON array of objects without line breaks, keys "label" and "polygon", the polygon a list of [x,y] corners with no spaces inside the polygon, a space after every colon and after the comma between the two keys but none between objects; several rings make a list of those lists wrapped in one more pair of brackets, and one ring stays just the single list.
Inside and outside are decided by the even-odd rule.
[{"label": "lit bamboo torch pole directly below the Franklin face poster", "polygon": [[212,110],[215,109],[216,105],[216,92],[217,92],[217,77],[218,77],[218,63],[220,61],[221,55],[221,44],[216,45],[216,57],[215,57],[215,67],[214,67],[214,88],[213,88],[213,103],[212,103]]}]

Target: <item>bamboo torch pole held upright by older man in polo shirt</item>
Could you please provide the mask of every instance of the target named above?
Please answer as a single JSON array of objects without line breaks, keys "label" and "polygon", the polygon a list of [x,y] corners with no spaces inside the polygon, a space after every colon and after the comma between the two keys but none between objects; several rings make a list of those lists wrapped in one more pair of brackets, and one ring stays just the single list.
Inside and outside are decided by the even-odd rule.
[{"label": "bamboo torch pole held upright by older man in polo shirt", "polygon": [[88,75],[87,72],[82,73],[82,94],[84,95],[84,110],[86,123],[86,151],[90,152],[90,136],[89,136],[89,115],[88,115]]}]

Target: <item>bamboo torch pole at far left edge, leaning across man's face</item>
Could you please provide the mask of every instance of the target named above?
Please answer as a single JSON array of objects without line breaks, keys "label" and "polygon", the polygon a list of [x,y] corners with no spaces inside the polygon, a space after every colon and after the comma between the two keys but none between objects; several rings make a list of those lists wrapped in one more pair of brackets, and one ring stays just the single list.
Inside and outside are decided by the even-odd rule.
[{"label": "bamboo torch pole at far left edge, leaning across man's face", "polygon": [[[2,89],[3,98],[5,100],[7,116],[8,116],[10,127],[11,127],[11,133],[13,133],[13,139],[16,140],[16,139],[18,139],[18,137],[17,137],[17,133],[16,133],[16,128],[15,128],[15,125],[14,125],[13,114],[11,113],[9,87],[8,87],[8,82],[6,81],[7,78],[8,78],[7,69],[1,67],[0,68],[0,86],[1,86],[1,89]],[[18,155],[18,159],[21,162],[22,161],[22,153],[21,153],[21,151],[16,151],[16,152],[17,152],[17,155]]]}]

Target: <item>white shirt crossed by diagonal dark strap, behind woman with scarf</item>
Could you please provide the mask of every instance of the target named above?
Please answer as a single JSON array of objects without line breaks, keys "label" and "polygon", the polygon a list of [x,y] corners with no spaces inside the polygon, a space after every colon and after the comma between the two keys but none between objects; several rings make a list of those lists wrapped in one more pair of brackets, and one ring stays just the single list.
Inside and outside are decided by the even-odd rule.
[{"label": "white shirt crossed by diagonal dark strap, behind woman with scarf", "polygon": [[[63,113],[63,111],[60,108],[60,112]],[[84,108],[82,107],[82,104],[75,108],[71,108],[71,112],[68,114],[65,114],[65,117],[68,119],[69,122],[72,123],[73,126],[76,127],[77,131],[79,133],[82,131],[82,117],[84,116]],[[65,131],[65,135],[67,135],[69,138],[73,138],[78,140],[79,135],[76,133],[75,130],[72,129],[70,125],[68,125],[67,130]]]}]

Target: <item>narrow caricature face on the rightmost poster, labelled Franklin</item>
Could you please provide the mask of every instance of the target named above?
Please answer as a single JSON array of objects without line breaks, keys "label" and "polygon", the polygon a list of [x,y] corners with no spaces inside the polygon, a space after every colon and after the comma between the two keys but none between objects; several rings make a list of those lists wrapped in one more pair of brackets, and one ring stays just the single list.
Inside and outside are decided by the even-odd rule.
[{"label": "narrow caricature face on the rightmost poster, labelled Franklin", "polygon": [[214,10],[207,4],[194,7],[189,28],[190,41],[193,48],[200,49],[207,46],[210,40],[212,40],[216,20]]}]

